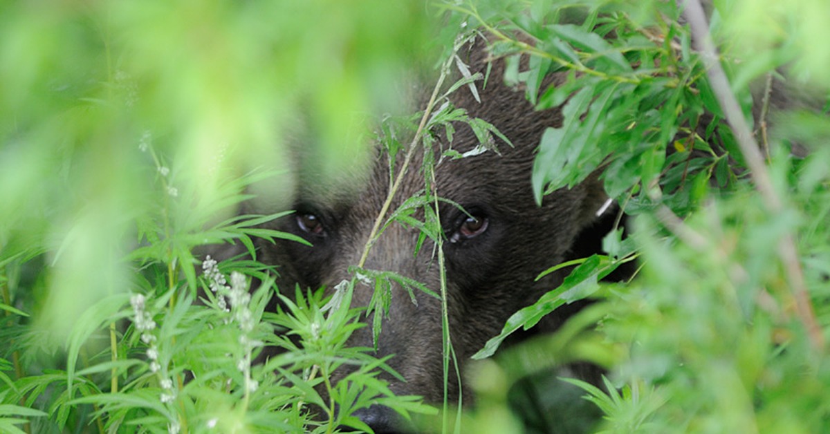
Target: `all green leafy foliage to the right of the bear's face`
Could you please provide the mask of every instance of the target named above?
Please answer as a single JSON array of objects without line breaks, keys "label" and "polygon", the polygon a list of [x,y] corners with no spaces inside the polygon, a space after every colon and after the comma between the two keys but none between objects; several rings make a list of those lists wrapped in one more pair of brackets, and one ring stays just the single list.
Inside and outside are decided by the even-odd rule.
[{"label": "all green leafy foliage to the right of the bear's face", "polygon": [[[591,297],[598,304],[547,344],[521,345],[501,359],[524,373],[574,359],[607,367],[613,382],[568,380],[604,413],[594,429],[827,431],[830,63],[815,41],[830,35],[810,20],[801,27],[800,18],[826,15],[827,6],[747,0],[715,2],[710,11],[730,91],[744,110],[739,115],[766,157],[766,167],[754,170],[769,173],[774,191],[759,193],[674,3],[454,7],[485,27],[495,52],[509,56],[514,68],[505,80],[523,83],[540,108],[564,104],[563,125],[540,141],[538,194],[599,168],[609,197],[637,216],[629,219],[627,240],[608,235],[609,256],[552,265],[578,266],[562,286],[511,317],[478,356],[493,354],[507,335],[559,305]],[[531,56],[526,66],[519,56]],[[567,75],[564,83],[544,83],[553,71]],[[775,93],[765,102],[765,76],[779,73],[789,112],[774,110]],[[765,116],[759,124],[753,105],[756,116]],[[783,206],[771,207],[771,195]],[[798,255],[792,261],[788,239]],[[635,257],[630,282],[598,281]],[[598,327],[586,321],[596,317]],[[532,354],[533,345],[556,357],[517,357]]]}]

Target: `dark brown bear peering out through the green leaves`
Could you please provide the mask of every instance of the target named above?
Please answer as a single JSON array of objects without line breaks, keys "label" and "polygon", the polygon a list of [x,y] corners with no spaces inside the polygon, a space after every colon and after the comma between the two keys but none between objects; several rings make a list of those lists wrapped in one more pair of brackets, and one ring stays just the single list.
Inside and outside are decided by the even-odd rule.
[{"label": "dark brown bear peering out through the green leaves", "polygon": [[[493,124],[510,140],[506,144],[495,139],[497,151],[479,153],[476,149],[480,140],[466,124],[457,123],[452,142],[447,134],[435,135],[438,143],[434,149],[452,147],[461,154],[476,154],[444,158],[434,168],[436,193],[447,199],[441,202],[437,214],[444,232],[450,336],[463,371],[471,355],[500,332],[510,315],[556,288],[564,277],[564,271],[559,271],[536,280],[541,271],[574,257],[576,251],[581,255],[576,257],[585,255],[577,241],[580,234],[592,230],[607,197],[593,177],[574,188],[545,195],[538,204],[531,188],[535,150],[546,128],[562,124],[560,110],[537,111],[526,100],[523,90],[506,85],[501,80],[504,61],[491,62],[486,41],[481,38],[462,48],[459,56],[471,74],[489,73],[490,78],[486,83],[477,83],[477,95],[466,86],[452,93],[452,105],[466,110],[472,118]],[[413,152],[410,168],[403,174],[390,210],[424,188],[424,174],[418,170],[423,159],[438,158],[437,154],[425,154],[437,150],[424,151],[420,144],[416,146],[419,149]],[[401,160],[398,158],[396,173]],[[332,193],[331,186],[315,185],[313,173],[304,175],[300,171],[297,176],[296,212],[277,221],[276,228],[304,238],[311,246],[286,240],[258,245],[260,260],[280,267],[277,284],[286,295],[295,285],[332,290],[351,277],[349,266],[359,263],[390,188],[388,161],[381,151],[374,167],[368,173],[349,178],[343,191]],[[326,193],[320,193],[321,189]],[[413,255],[418,236],[417,228],[393,223],[370,249],[364,268],[393,271],[439,292],[441,276],[432,255],[434,243],[427,238],[417,255]],[[355,285],[352,305],[368,305],[373,292],[370,285]],[[393,288],[392,292],[388,319],[383,320],[377,341],[372,328],[365,327],[354,332],[349,344],[377,344],[378,357],[394,354],[388,365],[406,381],[387,378],[393,393],[441,402],[441,300],[420,290],[413,292],[415,302],[400,288]],[[565,309],[558,310],[543,319],[537,329],[556,329],[567,316]],[[335,372],[334,381],[338,378],[342,378],[342,373]],[[448,381],[448,388],[451,400],[459,393],[466,395],[455,379]],[[375,432],[403,430],[398,418],[384,407],[360,410],[358,416]]]}]

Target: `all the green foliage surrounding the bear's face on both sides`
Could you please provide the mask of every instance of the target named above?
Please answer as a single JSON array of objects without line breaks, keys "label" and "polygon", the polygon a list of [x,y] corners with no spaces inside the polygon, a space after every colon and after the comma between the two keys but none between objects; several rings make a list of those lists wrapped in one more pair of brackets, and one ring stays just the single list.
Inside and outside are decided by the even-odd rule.
[{"label": "all the green foliage surrounding the bear's face on both sides", "polygon": [[[237,258],[211,280],[192,251],[287,237],[256,226],[275,216],[235,216],[247,186],[275,209],[288,200],[292,127],[315,127],[321,177],[365,163],[364,130],[400,114],[403,71],[441,63],[473,29],[536,105],[565,103],[564,126],[540,138],[538,194],[602,168],[632,236],[613,232],[608,256],[510,319],[482,357],[559,305],[598,300],[559,334],[478,363],[481,399],[448,429],[515,431],[516,378],[587,360],[608,368],[608,390],[583,384],[604,413],[593,430],[825,431],[830,5],[712,3],[726,93],[761,168],[723,121],[675,2],[3,3],[0,431],[330,432],[366,429],[350,414],[372,402],[434,412],[392,397],[382,361],[342,347],[359,318],[348,303],[301,289],[266,313],[268,266]],[[545,89],[551,72],[568,82]],[[770,75],[790,110],[764,105]],[[771,110],[753,119],[753,105]],[[633,258],[630,282],[599,282]],[[251,277],[262,285],[247,300]],[[266,345],[288,351],[253,363]],[[363,368],[329,384],[344,360]],[[547,414],[522,417],[550,431]]]}]

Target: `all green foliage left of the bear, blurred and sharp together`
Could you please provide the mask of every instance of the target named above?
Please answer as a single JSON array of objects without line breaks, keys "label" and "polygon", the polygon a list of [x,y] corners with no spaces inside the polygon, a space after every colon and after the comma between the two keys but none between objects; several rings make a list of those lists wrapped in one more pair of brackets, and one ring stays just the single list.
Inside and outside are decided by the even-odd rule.
[{"label": "all green foliage left of the bear, blurred and sharp together", "polygon": [[[222,263],[265,282],[246,331],[193,248],[290,237],[258,227],[276,214],[238,214],[251,193],[265,212],[291,203],[301,130],[320,178],[364,168],[369,119],[400,111],[402,71],[438,43],[429,18],[417,1],[2,2],[0,431],[325,432],[364,427],[349,415],[372,402],[425,411],[374,379],[383,361],[342,348],[357,312],[251,368],[263,344],[289,345],[279,324],[313,320],[262,319],[273,269]],[[313,420],[311,367],[332,358],[364,368]]]}]

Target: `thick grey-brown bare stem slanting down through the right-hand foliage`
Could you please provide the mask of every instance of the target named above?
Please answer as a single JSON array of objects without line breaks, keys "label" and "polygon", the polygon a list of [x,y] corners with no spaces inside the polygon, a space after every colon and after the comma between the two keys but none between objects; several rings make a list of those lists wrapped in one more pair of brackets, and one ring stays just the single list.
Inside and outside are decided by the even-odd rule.
[{"label": "thick grey-brown bare stem slanting down through the right-hand foliage", "polygon": [[[778,194],[775,193],[769,171],[764,164],[764,157],[761,154],[759,145],[755,143],[752,131],[749,129],[746,119],[742,115],[740,105],[730,89],[729,80],[723,67],[720,66],[717,50],[709,34],[709,24],[706,22],[706,14],[703,12],[700,0],[689,0],[686,2],[684,15],[691,27],[692,37],[696,40],[701,49],[701,58],[706,63],[706,75],[718,99],[720,107],[724,111],[726,121],[735,134],[741,154],[744,155],[747,166],[758,189],[767,210],[775,215],[780,214],[784,205]],[[784,262],[784,271],[787,274],[790,295],[795,300],[798,317],[807,329],[808,336],[813,347],[823,350],[824,339],[822,330],[818,326],[813,305],[810,302],[807,285],[804,281],[803,271],[798,262],[798,250],[793,240],[793,235],[787,233],[779,242],[779,256]]]}]

